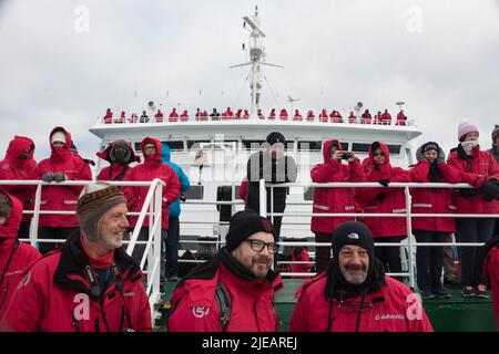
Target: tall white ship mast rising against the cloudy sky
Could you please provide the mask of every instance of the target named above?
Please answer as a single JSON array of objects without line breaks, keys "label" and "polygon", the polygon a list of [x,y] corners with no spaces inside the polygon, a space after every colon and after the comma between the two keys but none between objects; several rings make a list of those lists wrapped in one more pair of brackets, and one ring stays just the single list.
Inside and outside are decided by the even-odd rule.
[{"label": "tall white ship mast rising against the cloudy sky", "polygon": [[246,27],[246,23],[251,27],[252,31],[249,34],[248,40],[248,49],[249,49],[249,62],[237,64],[231,66],[238,67],[238,66],[249,66],[249,88],[251,88],[251,97],[252,97],[252,105],[251,105],[251,118],[257,119],[257,111],[259,110],[259,97],[261,97],[261,90],[262,90],[262,79],[263,79],[263,72],[262,72],[262,65],[267,66],[275,66],[275,67],[284,67],[282,65],[271,64],[266,63],[265,60],[265,50],[263,48],[263,39],[265,38],[265,33],[259,29],[259,18],[258,18],[258,7],[255,6],[255,14],[252,17],[243,17],[244,20],[244,27]]}]

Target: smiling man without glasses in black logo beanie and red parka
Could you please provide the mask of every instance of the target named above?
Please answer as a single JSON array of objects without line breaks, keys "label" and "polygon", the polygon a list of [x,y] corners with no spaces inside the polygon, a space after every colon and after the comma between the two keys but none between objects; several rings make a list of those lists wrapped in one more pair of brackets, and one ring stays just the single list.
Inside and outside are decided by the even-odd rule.
[{"label": "smiling man without glasses in black logo beanie and red parka", "polygon": [[364,223],[342,223],[333,240],[333,261],[296,293],[289,331],[432,332],[419,299],[385,275]]}]

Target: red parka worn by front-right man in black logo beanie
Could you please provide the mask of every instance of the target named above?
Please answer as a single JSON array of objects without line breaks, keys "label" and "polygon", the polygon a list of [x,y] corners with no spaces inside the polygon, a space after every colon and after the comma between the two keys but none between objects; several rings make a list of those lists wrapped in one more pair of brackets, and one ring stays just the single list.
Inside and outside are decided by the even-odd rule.
[{"label": "red parka worn by front-right man in black logo beanie", "polygon": [[[325,296],[326,272],[303,283],[289,323],[289,332],[325,332],[328,326],[329,302]],[[386,284],[366,295],[367,311],[347,311],[360,304],[360,296],[345,301],[342,309],[334,300],[332,332],[354,332],[360,316],[359,332],[432,332],[418,298],[401,282],[385,275]]]}]

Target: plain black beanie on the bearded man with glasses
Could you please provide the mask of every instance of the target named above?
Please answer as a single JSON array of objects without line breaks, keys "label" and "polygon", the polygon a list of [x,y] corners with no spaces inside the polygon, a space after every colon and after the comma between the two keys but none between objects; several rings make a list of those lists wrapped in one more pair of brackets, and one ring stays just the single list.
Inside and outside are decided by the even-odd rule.
[{"label": "plain black beanie on the bearded man with glasses", "polygon": [[274,227],[266,218],[249,209],[234,214],[228,225],[228,233],[225,237],[227,250],[235,250],[241,242],[256,232],[272,233],[274,235],[274,241],[277,242]]}]

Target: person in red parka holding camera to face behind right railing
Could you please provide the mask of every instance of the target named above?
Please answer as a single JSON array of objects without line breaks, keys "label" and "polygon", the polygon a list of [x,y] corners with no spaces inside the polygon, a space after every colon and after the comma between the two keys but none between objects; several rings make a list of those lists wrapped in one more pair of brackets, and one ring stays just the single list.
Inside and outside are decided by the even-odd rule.
[{"label": "person in red parka holding camera to face behind right railing", "polygon": [[[317,164],[310,171],[314,183],[364,181],[365,174],[360,160],[353,152],[343,152],[337,139],[323,144],[324,164]],[[346,160],[347,164],[343,164]],[[355,201],[354,188],[315,188],[314,214],[357,212],[359,206]],[[312,217],[310,229],[316,242],[332,242],[333,232],[345,222],[355,220],[350,217]],[[334,240],[333,240],[334,242]],[[316,271],[326,268],[330,259],[330,247],[317,247],[315,251]]]}]

